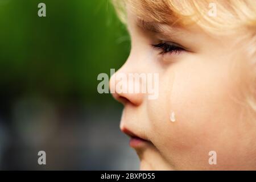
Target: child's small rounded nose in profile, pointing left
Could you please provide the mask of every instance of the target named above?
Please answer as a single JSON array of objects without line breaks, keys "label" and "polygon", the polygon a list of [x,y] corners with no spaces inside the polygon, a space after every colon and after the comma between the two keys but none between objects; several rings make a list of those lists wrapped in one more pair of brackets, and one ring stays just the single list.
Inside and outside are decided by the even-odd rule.
[{"label": "child's small rounded nose in profile, pointing left", "polygon": [[122,68],[112,75],[109,81],[110,92],[115,100],[121,102],[123,105],[130,103],[138,106],[142,104],[144,94],[141,90],[136,92],[135,86],[141,88],[142,82],[130,77],[130,75],[134,74],[131,70],[127,64],[124,64]]}]

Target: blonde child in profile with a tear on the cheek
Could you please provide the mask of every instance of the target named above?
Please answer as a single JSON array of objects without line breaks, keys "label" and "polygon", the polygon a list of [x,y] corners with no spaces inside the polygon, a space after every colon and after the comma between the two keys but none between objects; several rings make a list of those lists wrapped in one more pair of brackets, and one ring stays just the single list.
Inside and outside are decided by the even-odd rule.
[{"label": "blonde child in profile with a tear on the cheek", "polygon": [[[154,100],[148,93],[112,92],[124,105],[120,127],[140,168],[256,170],[256,1],[114,5],[127,24],[131,52],[110,89],[125,86],[114,80],[121,73],[159,78]],[[149,81],[130,79],[127,87]]]}]

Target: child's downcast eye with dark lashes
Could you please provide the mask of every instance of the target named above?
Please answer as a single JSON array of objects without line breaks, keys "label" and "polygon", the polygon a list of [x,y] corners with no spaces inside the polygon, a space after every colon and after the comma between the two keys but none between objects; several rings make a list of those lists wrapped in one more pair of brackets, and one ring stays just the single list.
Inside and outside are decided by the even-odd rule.
[{"label": "child's downcast eye with dark lashes", "polygon": [[152,47],[160,50],[159,54],[162,54],[162,55],[166,53],[180,53],[181,51],[185,51],[184,48],[172,42],[153,44]]}]

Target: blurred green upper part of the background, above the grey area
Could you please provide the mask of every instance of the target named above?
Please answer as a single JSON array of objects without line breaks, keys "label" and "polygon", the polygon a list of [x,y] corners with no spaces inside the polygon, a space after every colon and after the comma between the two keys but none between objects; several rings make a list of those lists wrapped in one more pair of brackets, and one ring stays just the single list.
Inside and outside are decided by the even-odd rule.
[{"label": "blurred green upper part of the background, above the grey area", "polygon": [[1,86],[13,94],[43,94],[58,101],[107,100],[97,75],[119,68],[129,38],[109,0],[0,1]]}]

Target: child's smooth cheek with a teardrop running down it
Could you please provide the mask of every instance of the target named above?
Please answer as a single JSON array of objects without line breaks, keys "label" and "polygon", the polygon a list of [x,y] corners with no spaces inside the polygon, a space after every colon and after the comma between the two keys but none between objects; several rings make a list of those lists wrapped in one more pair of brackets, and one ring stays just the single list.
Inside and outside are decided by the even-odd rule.
[{"label": "child's smooth cheek with a teardrop running down it", "polygon": [[[207,165],[209,151],[220,152],[226,142],[237,140],[240,108],[232,100],[237,85],[228,80],[225,67],[186,68],[164,73],[159,99],[148,101],[152,140],[172,163],[189,160]],[[172,111],[175,122],[170,120]]]}]

